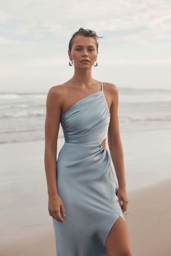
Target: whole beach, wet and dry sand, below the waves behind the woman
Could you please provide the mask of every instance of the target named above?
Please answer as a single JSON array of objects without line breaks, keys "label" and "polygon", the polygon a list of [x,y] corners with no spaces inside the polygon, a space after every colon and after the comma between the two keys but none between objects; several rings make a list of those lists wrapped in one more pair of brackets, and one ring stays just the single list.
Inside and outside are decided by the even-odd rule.
[{"label": "whole beach, wet and dry sand, below the waves behind the woman", "polygon": [[[146,148],[149,138],[151,143]],[[124,215],[133,256],[171,255],[168,138],[169,131],[125,133],[122,136],[129,199]],[[58,152],[62,143],[59,141]],[[152,150],[155,148],[157,150]],[[43,141],[1,144],[0,161],[0,255],[54,256],[54,229],[47,207]]]}]

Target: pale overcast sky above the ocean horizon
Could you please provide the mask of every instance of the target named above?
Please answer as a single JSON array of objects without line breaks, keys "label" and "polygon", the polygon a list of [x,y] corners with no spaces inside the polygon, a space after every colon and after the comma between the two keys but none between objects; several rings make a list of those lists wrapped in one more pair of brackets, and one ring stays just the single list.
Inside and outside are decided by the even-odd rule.
[{"label": "pale overcast sky above the ocean horizon", "polygon": [[11,0],[0,9],[0,91],[47,92],[69,80],[68,43],[80,27],[104,36],[93,78],[171,88],[171,1]]}]

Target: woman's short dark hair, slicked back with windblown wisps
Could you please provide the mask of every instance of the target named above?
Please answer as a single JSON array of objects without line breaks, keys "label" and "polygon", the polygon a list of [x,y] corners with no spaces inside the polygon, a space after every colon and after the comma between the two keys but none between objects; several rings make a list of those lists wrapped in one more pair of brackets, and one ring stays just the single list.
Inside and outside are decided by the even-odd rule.
[{"label": "woman's short dark hair, slicked back with windblown wisps", "polygon": [[84,28],[80,28],[78,31],[76,31],[73,35],[72,38],[70,38],[70,42],[69,42],[69,51],[71,51],[72,48],[72,43],[73,43],[73,38],[77,35],[80,36],[91,36],[96,40],[96,48],[97,48],[97,52],[98,52],[98,48],[99,48],[99,38],[102,38],[103,36],[97,36],[96,32],[90,29],[84,29]]}]

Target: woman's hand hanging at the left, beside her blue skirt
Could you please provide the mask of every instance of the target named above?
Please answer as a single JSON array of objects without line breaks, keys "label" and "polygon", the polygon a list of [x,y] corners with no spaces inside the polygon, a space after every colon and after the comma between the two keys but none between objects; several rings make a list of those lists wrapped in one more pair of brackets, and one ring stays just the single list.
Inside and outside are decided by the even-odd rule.
[{"label": "woman's hand hanging at the left, beside her blue skirt", "polygon": [[51,217],[59,222],[64,222],[64,218],[62,218],[62,216],[65,217],[64,204],[58,194],[49,196],[48,208],[49,215],[51,215]]}]

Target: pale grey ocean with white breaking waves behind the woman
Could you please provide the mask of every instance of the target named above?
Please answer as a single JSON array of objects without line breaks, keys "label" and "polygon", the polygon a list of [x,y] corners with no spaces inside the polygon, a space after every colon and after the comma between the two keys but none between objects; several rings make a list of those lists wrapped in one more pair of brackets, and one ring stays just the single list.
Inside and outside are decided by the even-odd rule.
[{"label": "pale grey ocean with white breaking waves behind the woman", "polygon": [[[121,133],[171,128],[171,90],[118,89]],[[43,140],[45,115],[46,94],[0,93],[0,143]]]}]

